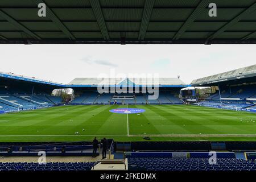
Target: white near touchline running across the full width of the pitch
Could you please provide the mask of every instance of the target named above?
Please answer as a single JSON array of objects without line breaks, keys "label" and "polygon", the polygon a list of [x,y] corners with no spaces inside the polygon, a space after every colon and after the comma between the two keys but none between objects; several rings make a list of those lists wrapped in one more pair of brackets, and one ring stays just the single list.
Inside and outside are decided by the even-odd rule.
[{"label": "white near touchline running across the full width of the pitch", "polygon": [[[0,135],[0,137],[94,137],[127,135]],[[129,135],[129,137],[256,137],[256,134],[163,134],[163,135]]]}]

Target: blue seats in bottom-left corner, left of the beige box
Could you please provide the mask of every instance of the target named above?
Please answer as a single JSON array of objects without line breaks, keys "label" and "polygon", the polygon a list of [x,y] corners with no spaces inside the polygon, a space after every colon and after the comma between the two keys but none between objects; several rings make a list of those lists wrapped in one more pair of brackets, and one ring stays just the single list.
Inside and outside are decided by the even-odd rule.
[{"label": "blue seats in bottom-left corner, left of the beige box", "polygon": [[93,163],[0,163],[0,171],[89,171]]}]

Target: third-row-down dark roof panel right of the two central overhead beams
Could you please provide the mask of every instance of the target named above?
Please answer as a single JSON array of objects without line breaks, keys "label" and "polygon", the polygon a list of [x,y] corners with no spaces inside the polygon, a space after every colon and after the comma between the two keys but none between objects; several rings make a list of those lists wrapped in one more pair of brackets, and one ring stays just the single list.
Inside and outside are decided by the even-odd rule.
[{"label": "third-row-down dark roof panel right of the two central overhead beams", "polygon": [[150,22],[147,31],[177,31],[184,22]]}]

